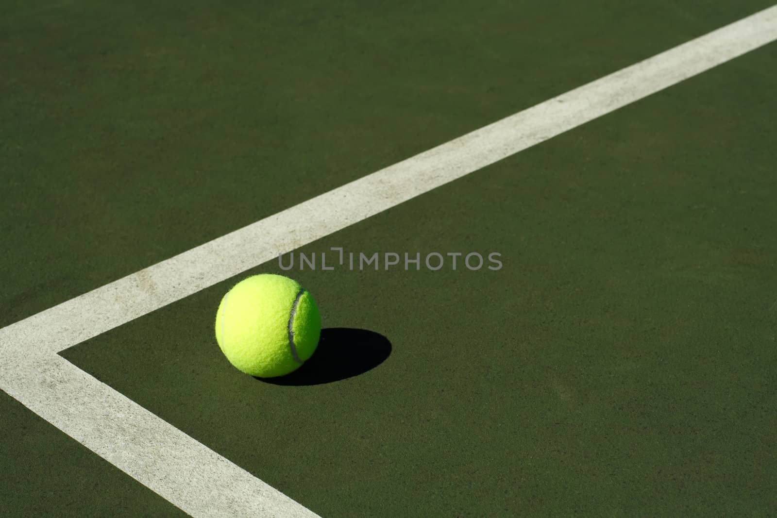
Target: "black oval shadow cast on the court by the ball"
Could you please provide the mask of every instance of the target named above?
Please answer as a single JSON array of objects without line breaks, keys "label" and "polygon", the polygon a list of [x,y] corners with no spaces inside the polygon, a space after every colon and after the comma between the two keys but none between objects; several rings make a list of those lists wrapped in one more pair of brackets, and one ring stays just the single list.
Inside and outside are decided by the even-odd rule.
[{"label": "black oval shadow cast on the court by the ball", "polygon": [[256,377],[275,385],[319,385],[358,376],[378,367],[391,354],[384,335],[366,329],[326,328],[319,346],[302,367],[281,377]]}]

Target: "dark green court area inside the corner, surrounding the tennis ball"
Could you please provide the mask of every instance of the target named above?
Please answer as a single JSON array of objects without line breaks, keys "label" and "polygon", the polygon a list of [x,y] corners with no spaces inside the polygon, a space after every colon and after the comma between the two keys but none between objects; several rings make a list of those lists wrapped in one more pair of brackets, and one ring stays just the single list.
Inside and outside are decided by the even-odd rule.
[{"label": "dark green court area inside the corner, surrounding the tennis ball", "polygon": [[232,369],[235,280],[64,356],[323,516],[774,513],[775,52],[304,247],[503,255],[295,272],[326,327],[389,339],[364,374]]}]

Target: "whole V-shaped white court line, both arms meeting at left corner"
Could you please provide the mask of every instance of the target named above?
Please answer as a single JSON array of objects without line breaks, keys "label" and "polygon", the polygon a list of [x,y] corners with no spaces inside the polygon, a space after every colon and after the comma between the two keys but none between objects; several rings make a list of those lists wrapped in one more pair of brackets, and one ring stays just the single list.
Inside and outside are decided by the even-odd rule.
[{"label": "whole V-shaped white court line, both arms meeting at left corner", "polygon": [[55,353],[777,40],[777,6],[0,329],[0,388],[193,516],[315,516]]}]

